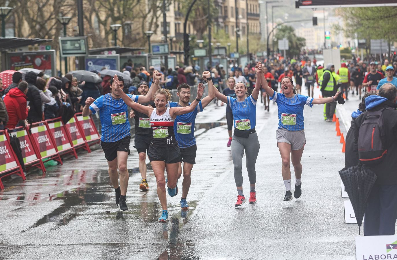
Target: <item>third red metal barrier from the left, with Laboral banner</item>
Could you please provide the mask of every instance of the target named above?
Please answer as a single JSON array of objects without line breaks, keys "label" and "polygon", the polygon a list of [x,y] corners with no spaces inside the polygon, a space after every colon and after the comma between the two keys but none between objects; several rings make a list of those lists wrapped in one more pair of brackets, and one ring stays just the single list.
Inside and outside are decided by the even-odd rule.
[{"label": "third red metal barrier from the left, with Laboral banner", "polygon": [[56,160],[62,164],[62,159],[58,151],[56,150],[55,141],[52,135],[47,129],[47,125],[44,121],[33,123],[29,126],[29,131],[33,139],[33,145],[35,146],[41,159],[45,162],[48,160]]}]

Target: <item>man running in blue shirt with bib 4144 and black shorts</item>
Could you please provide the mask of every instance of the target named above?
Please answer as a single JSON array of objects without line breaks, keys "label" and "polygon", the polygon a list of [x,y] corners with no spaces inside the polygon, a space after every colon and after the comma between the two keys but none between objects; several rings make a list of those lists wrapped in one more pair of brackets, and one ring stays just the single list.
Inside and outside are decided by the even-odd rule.
[{"label": "man running in blue shirt with bib 4144 and black shorts", "polygon": [[[116,89],[116,81],[119,80],[121,91]],[[158,84],[158,81],[156,82]],[[83,116],[89,116],[100,112],[100,122],[102,125],[102,136],[100,145],[105,152],[105,158],[108,161],[108,172],[110,181],[116,192],[116,205],[120,210],[128,210],[125,202],[125,195],[128,187],[128,169],[127,157],[130,153],[129,143],[131,141],[129,121],[127,120],[128,106],[121,99],[120,94],[125,94],[122,89],[124,79],[121,75],[114,75],[110,79],[111,91],[102,95],[96,100],[89,97],[85,101]],[[151,89],[150,89],[151,90]],[[152,91],[146,96],[136,96],[128,94],[128,97],[139,103],[147,103],[151,100]],[[119,185],[120,176],[120,185]]]}]

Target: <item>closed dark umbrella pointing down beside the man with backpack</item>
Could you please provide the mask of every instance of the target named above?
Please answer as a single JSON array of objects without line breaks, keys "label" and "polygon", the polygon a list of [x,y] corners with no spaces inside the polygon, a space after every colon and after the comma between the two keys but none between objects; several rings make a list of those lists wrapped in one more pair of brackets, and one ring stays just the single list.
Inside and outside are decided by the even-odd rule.
[{"label": "closed dark umbrella pointing down beside the man with backpack", "polygon": [[358,234],[360,235],[362,218],[364,218],[368,196],[376,181],[376,175],[364,165],[343,168],[339,171],[339,175],[353,206],[358,224]]}]

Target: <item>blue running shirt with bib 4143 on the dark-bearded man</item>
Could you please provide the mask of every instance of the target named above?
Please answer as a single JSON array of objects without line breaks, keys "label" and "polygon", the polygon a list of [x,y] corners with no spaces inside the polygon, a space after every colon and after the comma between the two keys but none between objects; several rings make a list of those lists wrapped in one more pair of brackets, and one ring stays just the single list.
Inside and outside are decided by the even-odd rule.
[{"label": "blue running shirt with bib 4143 on the dark-bearded man", "polygon": [[[168,107],[179,107],[177,102],[169,102]],[[190,106],[190,103],[189,103]],[[198,112],[203,111],[201,101],[193,112],[176,116],[174,121],[174,133],[179,148],[187,148],[196,144],[195,120]]]}]

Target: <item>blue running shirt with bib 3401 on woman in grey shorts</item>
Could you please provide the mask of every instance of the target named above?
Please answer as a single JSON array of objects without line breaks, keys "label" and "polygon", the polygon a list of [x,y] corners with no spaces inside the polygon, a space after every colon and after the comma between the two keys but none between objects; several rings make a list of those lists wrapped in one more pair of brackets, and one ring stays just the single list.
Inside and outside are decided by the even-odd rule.
[{"label": "blue running shirt with bib 3401 on woman in grey shorts", "polygon": [[270,100],[277,102],[278,107],[278,128],[284,128],[289,131],[300,131],[304,129],[303,124],[303,107],[313,106],[313,98],[295,94],[287,98],[283,93],[274,91]]}]

